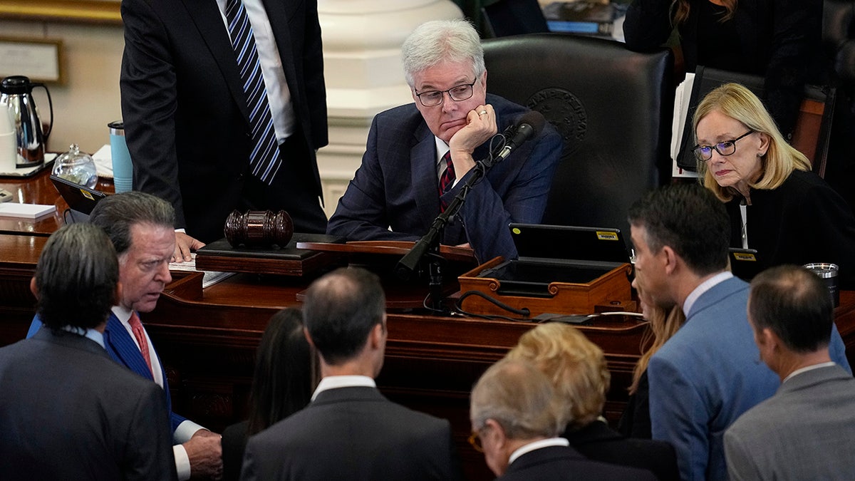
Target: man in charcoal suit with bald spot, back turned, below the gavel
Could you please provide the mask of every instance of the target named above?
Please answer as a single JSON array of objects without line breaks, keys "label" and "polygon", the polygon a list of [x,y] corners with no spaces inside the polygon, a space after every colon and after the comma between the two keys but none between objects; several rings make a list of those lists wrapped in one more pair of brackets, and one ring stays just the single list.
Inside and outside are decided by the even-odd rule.
[{"label": "man in charcoal suit with bald spot, back turned, below the gavel", "polygon": [[308,407],[246,446],[241,479],[457,479],[445,419],[386,399],[374,377],[386,348],[385,296],[366,270],[340,269],[312,283],[306,336],[320,353],[321,383]]}]

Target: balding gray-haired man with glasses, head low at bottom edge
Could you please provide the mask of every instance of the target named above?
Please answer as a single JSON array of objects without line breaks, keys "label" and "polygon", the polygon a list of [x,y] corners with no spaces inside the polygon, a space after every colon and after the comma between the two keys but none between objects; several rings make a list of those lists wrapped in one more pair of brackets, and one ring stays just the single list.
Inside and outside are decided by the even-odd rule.
[{"label": "balding gray-haired man with glasses, head low at bottom edge", "polygon": [[558,437],[567,402],[525,360],[503,359],[475,383],[469,442],[498,479],[656,479],[652,472],[587,460]]}]

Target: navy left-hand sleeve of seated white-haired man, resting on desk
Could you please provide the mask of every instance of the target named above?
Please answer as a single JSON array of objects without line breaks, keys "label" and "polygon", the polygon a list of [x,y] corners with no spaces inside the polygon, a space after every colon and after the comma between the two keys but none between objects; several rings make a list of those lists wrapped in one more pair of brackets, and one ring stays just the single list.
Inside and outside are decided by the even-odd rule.
[{"label": "navy left-hand sleeve of seated white-haired man, resting on desk", "polygon": [[[345,195],[339,199],[339,205],[329,219],[327,234],[343,235],[349,241],[416,241],[419,238],[417,235],[389,230],[392,220],[386,209],[386,187],[380,168],[378,117],[374,116],[371,122],[363,163],[347,186]],[[389,152],[386,155],[403,151],[385,147],[385,151]],[[402,157],[400,162],[409,163],[410,158]]]}]

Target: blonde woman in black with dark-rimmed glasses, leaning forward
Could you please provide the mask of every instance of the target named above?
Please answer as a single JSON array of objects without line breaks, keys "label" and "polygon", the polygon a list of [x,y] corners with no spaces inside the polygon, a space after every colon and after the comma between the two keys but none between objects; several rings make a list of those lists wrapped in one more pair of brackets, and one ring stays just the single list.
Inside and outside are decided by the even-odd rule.
[{"label": "blonde woman in black with dark-rimmed glasses, leaning forward", "polygon": [[745,86],[719,86],[694,115],[699,174],[727,203],[730,246],[758,250],[766,268],[833,262],[843,288],[855,286],[855,216],[846,200],[811,172]]}]

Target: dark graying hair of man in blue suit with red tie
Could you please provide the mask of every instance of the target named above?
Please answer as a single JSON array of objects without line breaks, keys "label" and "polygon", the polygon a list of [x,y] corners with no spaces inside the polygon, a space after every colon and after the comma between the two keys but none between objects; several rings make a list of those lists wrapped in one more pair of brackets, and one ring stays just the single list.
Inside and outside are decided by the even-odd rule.
[{"label": "dark graying hair of man in blue suit with red tie", "polygon": [[131,248],[131,227],[136,224],[175,227],[175,210],[166,200],[137,191],[117,193],[101,199],[92,209],[89,222],[109,235],[121,256]]}]

